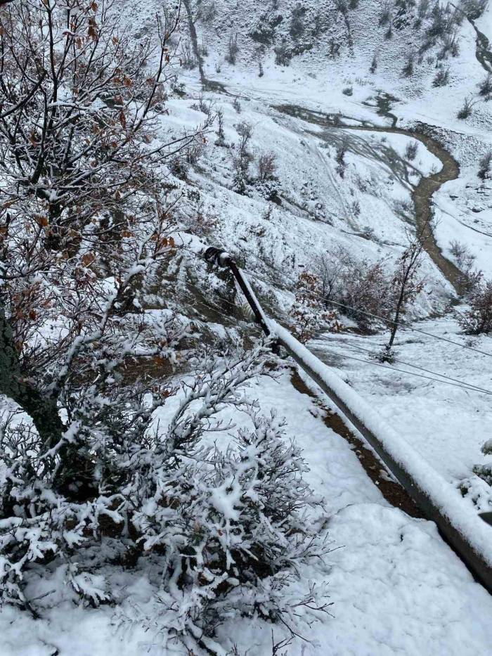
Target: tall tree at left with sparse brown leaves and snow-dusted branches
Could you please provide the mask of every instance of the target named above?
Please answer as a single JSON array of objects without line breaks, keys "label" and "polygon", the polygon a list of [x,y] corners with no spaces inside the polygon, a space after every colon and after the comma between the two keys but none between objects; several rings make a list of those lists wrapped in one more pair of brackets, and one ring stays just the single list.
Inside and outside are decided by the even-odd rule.
[{"label": "tall tree at left with sparse brown leaves and snow-dusted branches", "polygon": [[[91,385],[136,350],[162,351],[138,319],[138,285],[172,247],[156,172],[197,137],[150,146],[176,25],[158,20],[156,41],[131,46],[110,3],[1,15],[0,392],[32,418],[60,488],[79,463],[75,417]],[[70,439],[60,408],[79,426]]]}]

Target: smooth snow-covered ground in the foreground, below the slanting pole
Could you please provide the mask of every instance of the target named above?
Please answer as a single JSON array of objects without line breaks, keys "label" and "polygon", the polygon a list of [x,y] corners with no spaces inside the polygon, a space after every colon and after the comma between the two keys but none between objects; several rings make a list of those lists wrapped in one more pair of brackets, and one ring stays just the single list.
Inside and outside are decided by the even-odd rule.
[{"label": "smooth snow-covered ground in the foreground, below the slanting pole", "polygon": [[[323,423],[324,410],[292,387],[290,372],[261,378],[247,392],[261,411],[278,411],[288,432],[304,449],[307,480],[325,498],[332,548],[325,562],[299,572],[294,587],[327,585],[330,614],[304,634],[309,643],[292,643],[289,656],[433,655],[486,656],[492,641],[492,599],[439,537],[432,522],[413,519],[391,508],[370,482],[356,454]],[[235,416],[238,420],[238,416]],[[5,608],[0,614],[2,656],[140,656],[184,654],[162,650],[152,629],[118,629],[118,614],[145,615],[155,592],[141,575],[113,574],[118,612],[76,607],[50,591],[49,570],[38,594],[43,619]],[[235,622],[221,627],[226,645],[238,653],[271,654],[271,626]],[[280,629],[274,629],[276,641]],[[249,652],[248,652],[249,650]]]}]

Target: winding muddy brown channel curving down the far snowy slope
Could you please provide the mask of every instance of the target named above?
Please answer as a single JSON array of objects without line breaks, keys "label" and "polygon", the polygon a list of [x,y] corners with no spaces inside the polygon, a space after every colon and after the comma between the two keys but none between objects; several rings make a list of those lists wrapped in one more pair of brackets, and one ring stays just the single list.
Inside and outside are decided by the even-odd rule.
[{"label": "winding muddy brown channel curving down the far snowy slope", "polygon": [[[275,109],[284,114],[300,118],[311,124],[321,125],[325,129],[330,131],[340,131],[341,134],[347,131],[370,131],[370,132],[382,132],[382,133],[392,133],[392,134],[404,134],[406,136],[411,136],[413,139],[417,139],[429,150],[432,155],[441,160],[442,169],[439,173],[434,173],[429,176],[422,176],[420,178],[419,184],[415,186],[412,192],[413,203],[415,206],[415,228],[417,232],[422,231],[425,228],[426,224],[432,219],[433,210],[432,210],[432,197],[436,191],[441,188],[446,182],[455,180],[458,178],[460,173],[460,167],[458,162],[448,153],[448,151],[441,146],[439,141],[436,141],[434,137],[428,134],[432,128],[425,124],[418,124],[417,129],[409,130],[401,127],[396,127],[397,117],[394,114],[391,114],[389,108],[391,106],[391,101],[395,98],[391,96],[379,96],[377,98],[378,105],[378,114],[380,116],[387,117],[391,120],[391,126],[374,126],[368,121],[359,120],[356,117],[343,116],[340,114],[325,114],[323,112],[315,112],[313,110],[307,110],[305,108],[299,107],[299,105],[275,105]],[[357,122],[358,124],[347,124],[344,123],[344,120],[350,120],[351,122]],[[429,238],[425,242],[425,250],[427,251],[429,257],[431,257],[434,264],[436,264],[441,274],[446,278],[446,280],[453,285],[453,288],[458,292],[461,292],[460,278],[461,271],[458,269],[453,262],[444,257],[441,249],[437,245],[436,238],[433,233],[430,234]]]}]

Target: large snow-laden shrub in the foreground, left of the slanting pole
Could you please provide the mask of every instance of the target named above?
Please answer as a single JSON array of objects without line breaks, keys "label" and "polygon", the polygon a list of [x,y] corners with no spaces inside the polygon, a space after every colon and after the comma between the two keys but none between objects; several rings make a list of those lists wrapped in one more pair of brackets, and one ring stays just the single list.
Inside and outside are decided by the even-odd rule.
[{"label": "large snow-laden shrub in the foreground, left of the slanting pole", "polygon": [[[146,390],[138,402],[129,390],[124,398],[107,392],[104,403],[101,394],[86,399],[69,444],[72,458],[92,454],[92,467],[74,462],[64,489],[44,465],[60,449],[46,451],[35,432],[3,425],[2,598],[27,607],[32,565],[51,560],[69,563],[66,579],[81,600],[103,603],[111,598],[103,566],[133,551],[159,571],[156,605],[171,636],[207,646],[235,615],[290,625],[293,600],[283,591],[296,565],[324,551],[313,515],[321,500],[303,480],[283,422],[245,401],[242,387],[261,373],[262,357],[257,347],[197,359],[181,390]],[[154,412],[172,393],[179,407],[163,425]],[[213,442],[210,432],[233,430],[221,420],[227,406],[245,412],[248,425]]]}]

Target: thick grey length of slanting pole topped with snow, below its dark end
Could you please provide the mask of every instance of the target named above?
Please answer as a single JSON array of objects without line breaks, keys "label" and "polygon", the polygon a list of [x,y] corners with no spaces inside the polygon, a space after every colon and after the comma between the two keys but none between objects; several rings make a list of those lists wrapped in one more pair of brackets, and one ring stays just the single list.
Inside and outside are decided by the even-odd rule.
[{"label": "thick grey length of slanting pole topped with snow, below its dark end", "polygon": [[271,333],[375,449],[470,571],[492,593],[492,527],[339,376],[276,321]]}]

